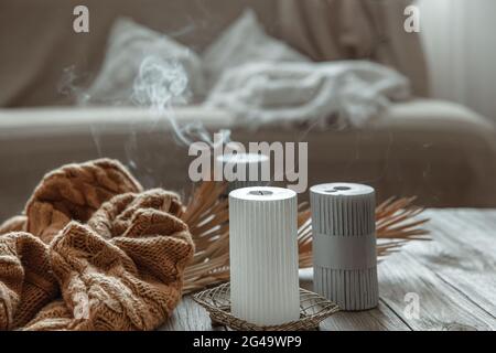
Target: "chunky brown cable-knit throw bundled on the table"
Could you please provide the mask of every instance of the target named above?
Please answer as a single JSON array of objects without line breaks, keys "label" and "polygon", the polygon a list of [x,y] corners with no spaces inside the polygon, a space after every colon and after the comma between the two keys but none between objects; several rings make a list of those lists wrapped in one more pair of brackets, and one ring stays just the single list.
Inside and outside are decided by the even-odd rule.
[{"label": "chunky brown cable-knit throw bundled on the table", "polygon": [[0,330],[152,330],[194,246],[177,195],[117,161],[68,164],[0,225]]}]

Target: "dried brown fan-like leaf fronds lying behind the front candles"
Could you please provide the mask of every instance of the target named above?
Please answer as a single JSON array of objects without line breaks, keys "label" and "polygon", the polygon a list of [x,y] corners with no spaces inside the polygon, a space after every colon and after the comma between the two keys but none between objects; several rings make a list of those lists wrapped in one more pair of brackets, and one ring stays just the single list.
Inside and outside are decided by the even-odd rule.
[{"label": "dried brown fan-like leaf fronds lying behind the front candles", "polygon": [[[229,280],[229,210],[223,196],[227,183],[206,181],[196,185],[182,220],[190,226],[196,253],[184,275],[184,293]],[[390,197],[376,207],[377,255],[379,259],[398,252],[410,240],[429,240],[420,228],[423,208],[412,205],[416,197]],[[300,268],[312,266],[312,221],[308,203],[299,205],[298,246]]]}]

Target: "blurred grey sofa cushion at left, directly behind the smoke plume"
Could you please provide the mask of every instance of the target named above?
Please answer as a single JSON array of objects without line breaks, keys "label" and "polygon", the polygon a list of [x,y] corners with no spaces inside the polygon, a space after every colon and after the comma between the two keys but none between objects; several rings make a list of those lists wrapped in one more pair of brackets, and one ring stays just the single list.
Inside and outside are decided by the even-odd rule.
[{"label": "blurred grey sofa cushion at left, directly behind the smoke plume", "polygon": [[101,71],[78,99],[79,104],[169,104],[185,103],[202,92],[200,58],[192,50],[129,19],[118,19]]}]

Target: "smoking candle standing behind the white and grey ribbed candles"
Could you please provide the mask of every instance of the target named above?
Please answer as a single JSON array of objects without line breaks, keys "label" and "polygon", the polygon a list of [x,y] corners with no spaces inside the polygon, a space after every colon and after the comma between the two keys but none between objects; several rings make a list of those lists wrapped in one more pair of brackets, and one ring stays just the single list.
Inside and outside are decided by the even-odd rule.
[{"label": "smoking candle standing behind the white and grey ribbed candles", "polygon": [[[245,169],[246,180],[229,181],[227,186],[227,194],[236,189],[249,188],[249,186],[263,186],[269,181],[262,181],[262,168],[267,168],[269,164],[269,158],[265,154],[257,153],[228,153],[218,156],[216,159],[217,168],[224,168],[226,164],[230,164],[234,169]],[[257,180],[250,179],[250,171],[256,174]]]}]

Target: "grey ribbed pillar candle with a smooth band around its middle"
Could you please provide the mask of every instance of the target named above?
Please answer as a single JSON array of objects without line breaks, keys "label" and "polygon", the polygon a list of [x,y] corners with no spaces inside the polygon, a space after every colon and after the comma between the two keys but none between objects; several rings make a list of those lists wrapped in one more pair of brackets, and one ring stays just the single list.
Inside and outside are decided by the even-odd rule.
[{"label": "grey ribbed pillar candle with a smooth band around its middle", "polygon": [[353,183],[310,189],[314,290],[343,310],[377,307],[375,191]]}]

